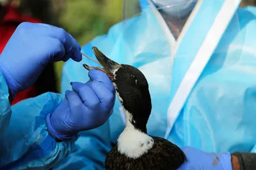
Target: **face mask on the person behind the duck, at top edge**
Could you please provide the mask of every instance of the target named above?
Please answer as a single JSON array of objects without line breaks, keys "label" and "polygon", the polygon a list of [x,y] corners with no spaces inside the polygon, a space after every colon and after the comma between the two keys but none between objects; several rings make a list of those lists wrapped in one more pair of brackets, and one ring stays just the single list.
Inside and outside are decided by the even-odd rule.
[{"label": "face mask on the person behind the duck, at top edge", "polygon": [[186,17],[191,13],[197,0],[152,0],[159,10],[172,17]]}]

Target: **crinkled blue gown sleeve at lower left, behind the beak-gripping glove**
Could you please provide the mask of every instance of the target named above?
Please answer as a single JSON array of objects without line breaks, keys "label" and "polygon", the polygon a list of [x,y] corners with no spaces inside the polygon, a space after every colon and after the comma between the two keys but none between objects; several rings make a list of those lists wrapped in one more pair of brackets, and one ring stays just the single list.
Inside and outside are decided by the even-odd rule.
[{"label": "crinkled blue gown sleeve at lower left, behind the beak-gripping glove", "polygon": [[49,135],[46,116],[63,97],[47,92],[10,106],[9,92],[0,73],[0,169],[47,169],[74,148],[75,138],[56,142]]}]

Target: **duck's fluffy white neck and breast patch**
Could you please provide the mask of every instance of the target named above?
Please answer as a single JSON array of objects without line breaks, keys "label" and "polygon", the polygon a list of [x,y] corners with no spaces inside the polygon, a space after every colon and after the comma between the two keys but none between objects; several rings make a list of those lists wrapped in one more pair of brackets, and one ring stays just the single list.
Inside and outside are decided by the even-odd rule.
[{"label": "duck's fluffy white neck and breast patch", "polygon": [[150,150],[154,145],[154,139],[147,135],[145,124],[138,127],[138,122],[134,123],[132,114],[125,110],[126,126],[120,134],[117,145],[118,151],[127,157],[136,159]]}]

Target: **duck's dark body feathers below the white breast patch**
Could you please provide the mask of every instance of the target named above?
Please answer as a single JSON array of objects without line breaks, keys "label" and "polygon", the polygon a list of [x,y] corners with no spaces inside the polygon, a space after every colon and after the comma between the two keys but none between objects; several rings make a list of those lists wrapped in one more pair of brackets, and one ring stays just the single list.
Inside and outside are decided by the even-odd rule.
[{"label": "duck's dark body feathers below the white breast patch", "polygon": [[154,146],[138,159],[132,159],[118,152],[117,145],[108,153],[106,170],[175,170],[185,161],[186,156],[180,148],[170,141],[152,136]]}]

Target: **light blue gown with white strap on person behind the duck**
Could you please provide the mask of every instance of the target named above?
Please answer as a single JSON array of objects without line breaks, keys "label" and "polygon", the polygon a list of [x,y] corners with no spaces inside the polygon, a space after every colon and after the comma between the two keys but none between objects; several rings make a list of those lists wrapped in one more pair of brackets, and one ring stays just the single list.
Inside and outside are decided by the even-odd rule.
[{"label": "light blue gown with white strap on person behind the duck", "polygon": [[[120,22],[92,46],[116,62],[138,67],[152,98],[148,134],[206,152],[255,152],[256,8],[240,1],[198,1],[177,41],[148,2],[140,15]],[[88,59],[83,63],[97,66]],[[63,67],[62,93],[70,81],[88,81],[81,63]],[[104,159],[125,127],[118,97],[106,124],[81,132],[76,151],[54,169],[104,169]]]}]

